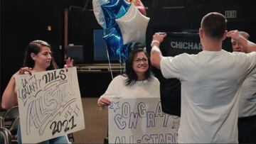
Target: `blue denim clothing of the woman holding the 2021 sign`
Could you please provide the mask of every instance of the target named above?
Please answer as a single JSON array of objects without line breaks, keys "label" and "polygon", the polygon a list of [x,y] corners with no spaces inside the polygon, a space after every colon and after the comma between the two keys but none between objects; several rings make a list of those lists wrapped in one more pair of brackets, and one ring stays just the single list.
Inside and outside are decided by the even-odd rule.
[{"label": "blue denim clothing of the woman holding the 2021 sign", "polygon": [[[21,126],[18,126],[18,131],[17,131],[17,140],[18,140],[18,144],[22,144],[21,141]],[[68,136],[64,135],[64,136],[59,136],[57,138],[52,138],[50,140],[46,140],[46,141],[42,141],[40,144],[54,144],[54,143],[70,143],[70,141],[68,140]]]}]

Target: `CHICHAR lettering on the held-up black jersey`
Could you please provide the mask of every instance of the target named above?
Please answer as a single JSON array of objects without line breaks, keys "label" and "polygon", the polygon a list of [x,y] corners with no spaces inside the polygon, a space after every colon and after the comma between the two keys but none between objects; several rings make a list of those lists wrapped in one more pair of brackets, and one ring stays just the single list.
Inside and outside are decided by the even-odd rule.
[{"label": "CHICHAR lettering on the held-up black jersey", "polygon": [[171,48],[183,50],[202,50],[201,43],[171,41]]}]

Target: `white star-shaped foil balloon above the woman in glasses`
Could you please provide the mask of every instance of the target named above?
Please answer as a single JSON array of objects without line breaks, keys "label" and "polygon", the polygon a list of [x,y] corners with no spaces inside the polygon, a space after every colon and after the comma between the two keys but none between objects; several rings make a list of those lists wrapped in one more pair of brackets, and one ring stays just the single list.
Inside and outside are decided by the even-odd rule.
[{"label": "white star-shaped foil balloon above the woman in glasses", "polygon": [[140,13],[134,4],[129,7],[124,16],[117,18],[115,21],[122,33],[124,45],[127,43],[146,45],[146,27],[149,20],[150,18]]}]

